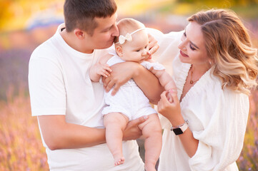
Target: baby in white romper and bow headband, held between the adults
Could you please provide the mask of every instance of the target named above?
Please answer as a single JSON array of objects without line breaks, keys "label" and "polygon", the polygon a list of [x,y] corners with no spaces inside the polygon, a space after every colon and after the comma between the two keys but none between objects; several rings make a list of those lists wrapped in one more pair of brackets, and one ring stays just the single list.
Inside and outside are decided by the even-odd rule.
[{"label": "baby in white romper and bow headband, held between the adults", "polygon": [[[91,81],[99,81],[101,76],[109,76],[109,66],[124,61],[134,61],[154,73],[166,90],[176,90],[172,77],[165,72],[164,66],[148,59],[149,38],[144,24],[134,19],[121,19],[117,23],[120,36],[115,38],[115,51],[112,56],[100,59],[99,64],[92,66],[89,71]],[[109,71],[109,72],[108,72]],[[115,165],[124,163],[122,152],[123,131],[129,120],[142,115],[149,119],[140,124],[145,139],[145,170],[155,170],[162,148],[162,128],[156,110],[149,104],[148,98],[131,79],[119,88],[116,95],[105,93],[106,107],[102,111],[106,127],[106,143],[111,151]]]}]

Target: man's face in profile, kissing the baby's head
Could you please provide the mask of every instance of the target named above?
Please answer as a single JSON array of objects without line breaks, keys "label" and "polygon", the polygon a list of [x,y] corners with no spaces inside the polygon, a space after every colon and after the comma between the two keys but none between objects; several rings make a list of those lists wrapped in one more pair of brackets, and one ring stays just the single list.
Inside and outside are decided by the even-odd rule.
[{"label": "man's face in profile, kissing the baby's head", "polygon": [[116,19],[116,13],[106,18],[95,18],[98,26],[94,29],[93,35],[88,35],[86,43],[90,42],[92,49],[109,48],[114,42],[114,37],[119,36]]}]

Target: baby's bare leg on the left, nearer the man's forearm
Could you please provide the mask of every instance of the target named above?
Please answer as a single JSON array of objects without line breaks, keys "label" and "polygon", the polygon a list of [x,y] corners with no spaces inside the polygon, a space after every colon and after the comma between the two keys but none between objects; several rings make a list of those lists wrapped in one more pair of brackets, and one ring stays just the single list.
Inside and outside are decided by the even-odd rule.
[{"label": "baby's bare leg on the left, nearer the man's forearm", "polygon": [[115,165],[124,163],[122,152],[123,131],[128,123],[128,118],[121,113],[109,113],[104,115],[104,126],[106,127],[106,144],[112,153]]}]

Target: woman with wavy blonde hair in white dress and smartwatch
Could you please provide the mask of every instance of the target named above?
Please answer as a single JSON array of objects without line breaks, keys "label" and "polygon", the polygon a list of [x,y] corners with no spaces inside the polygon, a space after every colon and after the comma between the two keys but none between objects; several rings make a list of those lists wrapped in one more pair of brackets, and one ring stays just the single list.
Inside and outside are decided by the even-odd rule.
[{"label": "woman with wavy blonde hair in white dress and smartwatch", "polygon": [[201,11],[188,21],[173,63],[178,93],[164,92],[158,103],[169,120],[159,171],[238,170],[257,49],[232,11]]}]

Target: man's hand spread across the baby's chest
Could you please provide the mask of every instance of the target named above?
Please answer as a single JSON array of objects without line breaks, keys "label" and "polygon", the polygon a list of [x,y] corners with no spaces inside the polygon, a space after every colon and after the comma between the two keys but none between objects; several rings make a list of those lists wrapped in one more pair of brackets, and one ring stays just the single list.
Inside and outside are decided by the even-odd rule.
[{"label": "man's hand spread across the baby's chest", "polygon": [[106,92],[109,92],[109,90],[114,86],[111,95],[115,95],[120,86],[124,85],[124,83],[134,77],[139,66],[139,63],[135,62],[116,63],[114,66],[111,66],[112,72],[110,73],[110,76],[107,78],[103,77],[102,80]]}]

